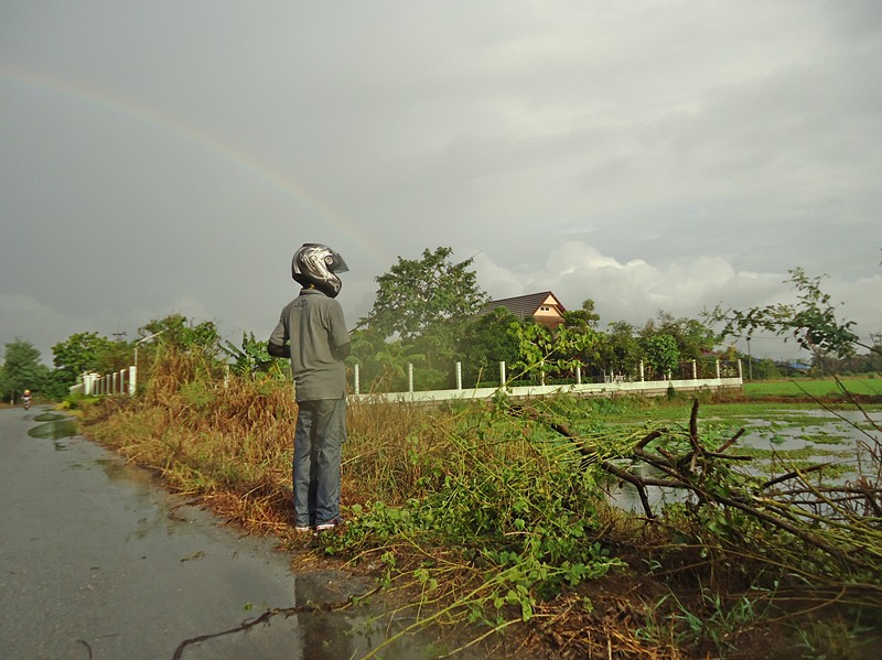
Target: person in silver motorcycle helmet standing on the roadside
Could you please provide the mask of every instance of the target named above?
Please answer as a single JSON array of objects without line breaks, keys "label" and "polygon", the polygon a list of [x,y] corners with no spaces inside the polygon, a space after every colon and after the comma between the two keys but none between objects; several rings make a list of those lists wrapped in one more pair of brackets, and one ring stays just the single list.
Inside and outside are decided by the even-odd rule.
[{"label": "person in silver motorcycle helmet standing on the roadside", "polygon": [[291,262],[300,295],[284,306],[269,354],[290,357],[298,403],[292,466],[297,530],[340,524],[340,458],[346,440],[349,335],[334,300],[348,267],[327,246],[304,244]]}]

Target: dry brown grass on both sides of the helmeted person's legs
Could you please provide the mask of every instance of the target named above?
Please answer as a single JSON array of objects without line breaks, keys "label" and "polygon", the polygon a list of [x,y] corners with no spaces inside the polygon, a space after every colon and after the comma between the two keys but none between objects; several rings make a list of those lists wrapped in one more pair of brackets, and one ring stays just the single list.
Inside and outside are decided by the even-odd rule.
[{"label": "dry brown grass on both sides of the helmeted person's legs", "polygon": [[[218,377],[206,360],[170,354],[135,399],[107,398],[84,418],[88,434],[202,498],[250,532],[289,538],[297,403],[289,382]],[[353,403],[342,500],[397,502],[412,493],[443,424],[430,411]],[[417,452],[420,453],[419,459]]]}]

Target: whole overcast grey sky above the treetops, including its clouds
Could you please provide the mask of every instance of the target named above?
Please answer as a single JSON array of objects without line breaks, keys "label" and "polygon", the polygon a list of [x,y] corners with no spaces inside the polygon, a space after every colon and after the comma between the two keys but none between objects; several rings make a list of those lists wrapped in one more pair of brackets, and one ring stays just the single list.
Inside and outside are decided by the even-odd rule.
[{"label": "whole overcast grey sky above the treetops, including its clouds", "polygon": [[604,326],[800,266],[867,336],[881,215],[878,0],[0,0],[0,346],[50,363],[172,312],[268,337],[303,242],[349,325],[445,246]]}]

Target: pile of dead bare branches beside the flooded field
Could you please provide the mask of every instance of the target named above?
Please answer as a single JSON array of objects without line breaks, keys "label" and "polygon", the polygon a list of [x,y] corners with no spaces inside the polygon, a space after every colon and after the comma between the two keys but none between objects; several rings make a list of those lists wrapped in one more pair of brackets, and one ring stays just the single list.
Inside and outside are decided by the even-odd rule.
[{"label": "pile of dead bare branches beside the flooded field", "polygon": [[[882,483],[873,458],[879,444],[864,447],[868,474],[845,484],[817,478],[829,464],[795,468],[765,478],[747,467],[754,458],[733,452],[743,429],[716,447],[702,444],[698,401],[688,431],[654,430],[626,455],[604,455],[566,423],[544,420],[578,447],[582,466],[596,465],[633,485],[643,515],[657,527],[691,526],[691,544],[710,548],[727,563],[772,567],[797,591],[817,597],[882,607]],[[542,421],[534,409],[518,414]],[[875,454],[873,453],[875,452]],[[650,491],[664,488],[666,501],[680,502],[676,522]],[[685,513],[682,512],[685,511]],[[790,592],[793,593],[793,592]]]}]

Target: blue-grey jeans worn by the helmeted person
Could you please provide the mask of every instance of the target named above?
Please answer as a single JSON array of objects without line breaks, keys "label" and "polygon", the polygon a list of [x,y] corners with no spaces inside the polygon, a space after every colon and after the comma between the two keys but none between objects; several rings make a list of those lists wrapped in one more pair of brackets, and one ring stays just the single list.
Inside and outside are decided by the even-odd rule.
[{"label": "blue-grey jeans worn by the helmeted person", "polygon": [[346,399],[299,401],[294,431],[297,526],[340,518],[340,458],[346,441]]}]

